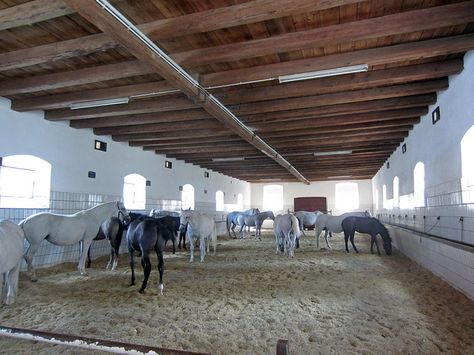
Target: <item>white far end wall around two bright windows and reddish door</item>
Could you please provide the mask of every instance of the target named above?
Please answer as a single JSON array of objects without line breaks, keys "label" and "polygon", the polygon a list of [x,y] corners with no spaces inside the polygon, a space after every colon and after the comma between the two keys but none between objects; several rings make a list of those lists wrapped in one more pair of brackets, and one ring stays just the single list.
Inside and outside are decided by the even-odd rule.
[{"label": "white far end wall around two bright windows and reddish door", "polygon": [[327,209],[332,211],[332,214],[339,215],[343,212],[336,209],[336,184],[340,182],[354,182],[358,184],[359,189],[359,210],[372,211],[372,182],[371,180],[351,180],[351,181],[317,181],[310,185],[303,183],[266,183],[266,184],[252,184],[251,196],[252,207],[263,208],[263,187],[266,185],[281,185],[283,186],[283,211],[293,211],[293,199],[295,197],[326,197]]}]

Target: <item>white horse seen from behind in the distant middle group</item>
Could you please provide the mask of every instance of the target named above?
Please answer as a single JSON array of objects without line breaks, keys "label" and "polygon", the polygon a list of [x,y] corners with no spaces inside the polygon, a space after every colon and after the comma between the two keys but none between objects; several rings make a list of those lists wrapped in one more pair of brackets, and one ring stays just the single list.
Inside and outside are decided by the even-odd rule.
[{"label": "white horse seen from behind in the distant middle group", "polygon": [[276,253],[286,253],[290,258],[295,254],[295,246],[300,239],[300,227],[298,218],[292,214],[279,214],[273,222],[273,233],[275,234]]}]

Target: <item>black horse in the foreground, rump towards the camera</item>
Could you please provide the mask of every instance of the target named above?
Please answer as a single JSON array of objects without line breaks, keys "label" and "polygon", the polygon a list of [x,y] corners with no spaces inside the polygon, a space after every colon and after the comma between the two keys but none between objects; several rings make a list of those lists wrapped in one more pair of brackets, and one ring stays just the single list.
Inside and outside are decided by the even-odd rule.
[{"label": "black horse in the foreground, rump towards the camera", "polygon": [[158,289],[160,294],[163,294],[163,251],[169,239],[174,239],[173,233],[165,225],[161,224],[158,219],[136,219],[130,223],[127,230],[128,255],[130,257],[130,268],[132,269],[130,286],[135,285],[135,251],[139,251],[141,254],[141,263],[144,271],[142,286],[138,292],[145,293],[151,273],[150,252],[154,249],[158,258],[158,272],[160,273]]}]

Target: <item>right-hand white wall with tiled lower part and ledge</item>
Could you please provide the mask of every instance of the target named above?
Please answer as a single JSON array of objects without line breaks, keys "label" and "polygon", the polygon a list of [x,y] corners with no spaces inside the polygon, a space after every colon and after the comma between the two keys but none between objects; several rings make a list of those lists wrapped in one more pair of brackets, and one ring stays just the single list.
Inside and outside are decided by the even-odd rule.
[{"label": "right-hand white wall with tiled lower part and ledge", "polygon": [[[440,120],[432,112],[439,107]],[[449,78],[449,89],[372,179],[379,218],[392,225],[395,245],[474,299],[474,204],[463,201],[461,146],[474,125],[474,51],[464,70]],[[474,162],[474,152],[472,161]],[[424,206],[414,207],[413,170],[424,163]],[[394,205],[393,179],[399,178],[400,205]],[[383,201],[383,185],[387,197]],[[375,191],[378,191],[376,193]],[[396,205],[396,203],[395,203]],[[430,234],[427,235],[426,233]],[[441,239],[444,238],[444,239]],[[451,242],[452,241],[452,242]]]}]

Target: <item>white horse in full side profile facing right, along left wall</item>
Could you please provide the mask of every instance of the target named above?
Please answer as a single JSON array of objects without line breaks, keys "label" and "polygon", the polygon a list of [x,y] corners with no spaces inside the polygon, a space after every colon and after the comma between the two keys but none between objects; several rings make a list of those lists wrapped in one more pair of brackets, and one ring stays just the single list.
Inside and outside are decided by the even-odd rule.
[{"label": "white horse in full side profile facing right, along left wall", "polygon": [[31,281],[37,280],[32,261],[43,239],[55,245],[71,245],[79,242],[81,256],[78,269],[81,275],[87,275],[85,263],[87,250],[92,240],[105,220],[112,216],[118,217],[120,213],[124,215],[125,219],[129,219],[123,203],[113,201],[71,215],[42,212],[23,220],[20,226],[25,232],[26,240],[30,243],[25,259]]}]

